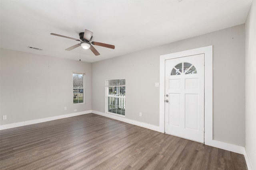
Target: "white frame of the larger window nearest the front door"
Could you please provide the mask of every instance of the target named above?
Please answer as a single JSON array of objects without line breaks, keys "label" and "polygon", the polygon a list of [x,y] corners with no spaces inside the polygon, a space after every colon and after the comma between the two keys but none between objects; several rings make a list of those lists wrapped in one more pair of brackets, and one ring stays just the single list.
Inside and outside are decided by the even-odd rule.
[{"label": "white frame of the larger window nearest the front door", "polygon": [[[106,79],[105,80],[105,113],[108,113],[108,114],[111,114],[111,115],[116,115],[116,116],[120,116],[120,117],[125,117],[125,113],[124,115],[121,115],[121,114],[117,114],[117,113],[112,113],[112,112],[109,112],[108,111],[108,97],[113,97],[113,96],[110,96],[109,95],[109,86],[107,85],[107,81],[108,80],[121,80],[121,79],[124,79],[126,80],[126,78],[113,78],[113,79]],[[119,86],[115,86],[115,87],[125,87],[126,88],[126,85],[119,85]],[[115,96],[114,98],[126,98],[125,96]],[[124,102],[125,103],[125,102]],[[124,106],[125,107],[125,106]]]}]

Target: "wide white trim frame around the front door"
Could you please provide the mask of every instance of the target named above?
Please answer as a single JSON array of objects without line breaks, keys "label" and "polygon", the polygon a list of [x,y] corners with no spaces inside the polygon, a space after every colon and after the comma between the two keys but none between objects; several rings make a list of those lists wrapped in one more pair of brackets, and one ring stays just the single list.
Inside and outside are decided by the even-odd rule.
[{"label": "wide white trim frame around the front door", "polygon": [[205,70],[204,70],[204,143],[209,145],[213,140],[212,134],[212,45],[207,47],[201,47],[197,49],[191,49],[181,51],[177,53],[171,53],[160,56],[160,117],[159,126],[164,130],[164,107],[165,107],[165,60],[174,59],[179,57],[185,57],[190,55],[204,54]]}]

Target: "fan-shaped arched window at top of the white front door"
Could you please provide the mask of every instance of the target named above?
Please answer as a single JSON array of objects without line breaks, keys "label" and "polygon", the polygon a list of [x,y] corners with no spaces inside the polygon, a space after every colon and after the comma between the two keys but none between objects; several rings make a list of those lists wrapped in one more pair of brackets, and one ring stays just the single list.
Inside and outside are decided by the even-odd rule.
[{"label": "fan-shaped arched window at top of the white front door", "polygon": [[181,75],[181,74],[197,74],[196,67],[190,63],[179,63],[173,67],[171,76],[172,75]]}]

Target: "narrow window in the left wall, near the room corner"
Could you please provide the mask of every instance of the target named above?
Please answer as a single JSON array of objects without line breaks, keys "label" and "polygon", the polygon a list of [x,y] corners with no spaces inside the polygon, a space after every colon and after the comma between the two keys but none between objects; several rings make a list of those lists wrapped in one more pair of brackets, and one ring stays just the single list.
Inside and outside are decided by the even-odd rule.
[{"label": "narrow window in the left wall, near the room corner", "polygon": [[84,103],[84,75],[73,72],[73,104]]}]

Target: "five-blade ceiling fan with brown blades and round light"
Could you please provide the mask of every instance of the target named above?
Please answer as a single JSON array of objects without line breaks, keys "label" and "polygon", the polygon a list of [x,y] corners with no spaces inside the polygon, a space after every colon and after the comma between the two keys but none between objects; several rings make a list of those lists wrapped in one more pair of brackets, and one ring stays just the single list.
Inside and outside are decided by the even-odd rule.
[{"label": "five-blade ceiling fan with brown blades and round light", "polygon": [[[92,53],[94,53],[94,55],[100,55],[100,53],[92,45],[98,45],[98,46],[101,46],[101,47],[107,47],[107,48],[110,48],[110,49],[115,49],[114,45],[92,41],[92,34],[93,34],[92,31],[89,31],[89,30],[85,29],[84,32],[79,33],[80,39],[76,39],[76,38],[67,37],[67,36],[64,36],[64,35],[51,33],[51,35],[56,35],[56,36],[59,36],[59,37],[74,39],[76,41],[81,42],[79,44],[73,45],[72,47],[69,47],[69,48],[65,49],[67,51],[70,51],[72,49],[75,49],[76,47],[81,46],[83,49],[90,49],[92,51]],[[92,41],[92,42],[90,42],[90,41]]]}]

